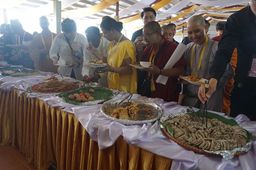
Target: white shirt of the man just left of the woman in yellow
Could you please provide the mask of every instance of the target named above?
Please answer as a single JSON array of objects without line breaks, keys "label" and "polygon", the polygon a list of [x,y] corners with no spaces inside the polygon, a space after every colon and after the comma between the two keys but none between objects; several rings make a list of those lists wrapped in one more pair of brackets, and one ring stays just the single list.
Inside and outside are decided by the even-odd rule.
[{"label": "white shirt of the man just left of the woman in yellow", "polygon": [[[98,53],[103,55],[104,57],[107,57],[108,55],[108,44],[110,41],[108,41],[106,38],[101,37],[102,40],[100,40],[100,44],[98,47],[96,47],[96,50]],[[90,53],[86,48],[84,48],[84,63],[82,68],[82,75],[83,76],[90,76],[93,74],[93,69],[91,67],[88,67],[86,63],[89,63],[90,60],[98,60],[92,53]]]}]

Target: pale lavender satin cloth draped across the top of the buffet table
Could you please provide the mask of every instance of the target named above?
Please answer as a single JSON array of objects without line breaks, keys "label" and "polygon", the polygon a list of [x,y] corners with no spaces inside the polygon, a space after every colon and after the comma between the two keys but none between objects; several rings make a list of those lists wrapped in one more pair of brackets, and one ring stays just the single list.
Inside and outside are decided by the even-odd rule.
[{"label": "pale lavender satin cloth draped across the top of the buffet table", "polygon": [[[10,91],[17,88],[20,94],[26,92],[26,88],[32,84],[42,82],[42,78],[54,75],[53,73],[41,73],[38,76],[27,76],[22,78],[13,78],[10,76],[0,77],[1,90]],[[70,80],[77,81],[77,80]],[[117,94],[112,100],[123,99],[128,96],[126,92]],[[195,153],[184,149],[175,142],[171,141],[160,129],[160,124],[156,121],[143,125],[123,125],[122,123],[112,121],[106,118],[101,112],[101,104],[94,106],[75,106],[62,102],[58,96],[28,94],[28,98],[38,97],[51,107],[60,107],[64,111],[73,113],[86,131],[90,138],[98,142],[99,148],[106,149],[113,145],[116,139],[123,135],[124,140],[131,145],[148,150],[155,154],[173,159],[172,170],[255,170],[256,169],[256,121],[250,121],[245,115],[238,115],[234,119],[240,126],[248,130],[252,135],[252,149],[247,153],[235,156],[234,158],[223,161],[221,157],[209,156]],[[133,99],[150,100],[163,108],[164,115],[184,112],[188,107],[177,105],[176,102],[166,103],[159,98],[146,98],[138,94],[132,96]],[[195,109],[198,110],[198,109]],[[216,113],[216,112],[214,112]],[[224,113],[217,113],[228,119]]]}]

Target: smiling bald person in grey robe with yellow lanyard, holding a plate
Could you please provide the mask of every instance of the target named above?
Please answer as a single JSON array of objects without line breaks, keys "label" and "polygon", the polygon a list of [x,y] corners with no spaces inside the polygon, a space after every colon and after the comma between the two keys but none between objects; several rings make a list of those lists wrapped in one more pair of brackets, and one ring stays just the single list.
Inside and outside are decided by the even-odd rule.
[{"label": "smiling bald person in grey robe with yellow lanyard, holding a plate", "polygon": [[[187,68],[185,71],[186,76],[197,76],[198,78],[208,79],[210,76],[210,67],[212,61],[218,50],[218,42],[213,41],[206,37],[208,26],[205,24],[202,16],[193,16],[188,21],[188,37],[192,41],[187,45],[185,51],[185,59],[187,61]],[[204,46],[206,45],[206,46]],[[194,49],[194,50],[193,50]],[[202,60],[200,58],[202,57]],[[191,60],[192,58],[192,60]],[[234,71],[229,63],[221,81],[217,87],[217,90],[212,94],[207,105],[208,110],[221,112],[223,93],[225,84],[232,78]],[[182,76],[180,76],[182,78]],[[182,83],[187,84],[186,80]],[[188,83],[188,90],[181,100],[182,106],[192,106],[199,109],[204,109],[197,96],[200,86]]]}]

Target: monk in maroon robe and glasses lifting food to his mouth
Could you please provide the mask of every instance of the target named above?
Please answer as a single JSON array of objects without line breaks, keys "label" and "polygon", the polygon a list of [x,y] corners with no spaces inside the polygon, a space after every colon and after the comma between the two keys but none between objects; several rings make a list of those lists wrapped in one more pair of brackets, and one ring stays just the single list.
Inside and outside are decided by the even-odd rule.
[{"label": "monk in maroon robe and glasses lifting food to his mouth", "polygon": [[[168,41],[164,36],[162,36],[161,27],[156,21],[146,23],[143,28],[142,37],[147,45],[143,51],[143,42],[137,43],[137,60],[151,62],[153,67],[143,68],[143,70],[146,71],[146,75],[145,77],[140,77],[144,79],[150,74],[153,75],[153,81],[151,82],[151,93],[148,97],[161,98],[166,102],[178,102],[181,86],[178,86],[178,88],[176,88],[173,92],[171,91],[178,81],[178,76],[184,74],[186,61],[183,56],[176,56],[180,57],[180,60],[175,63],[172,68],[164,69],[164,66],[178,45],[172,41]],[[166,84],[156,82],[159,75],[168,76]]]}]

